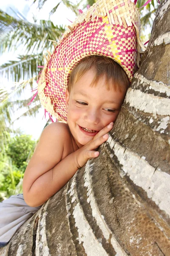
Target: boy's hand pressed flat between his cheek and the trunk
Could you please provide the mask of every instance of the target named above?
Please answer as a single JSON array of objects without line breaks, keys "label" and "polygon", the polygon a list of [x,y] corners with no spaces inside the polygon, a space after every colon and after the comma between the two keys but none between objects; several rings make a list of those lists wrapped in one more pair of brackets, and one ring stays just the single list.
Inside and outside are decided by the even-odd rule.
[{"label": "boy's hand pressed flat between his cheek and the trunk", "polygon": [[94,136],[94,138],[89,141],[86,145],[84,145],[82,148],[79,148],[76,151],[77,156],[77,168],[81,168],[85,165],[87,160],[89,158],[98,157],[99,151],[95,151],[102,143],[104,143],[106,140],[108,140],[109,135],[107,134],[111,129],[113,128],[113,122],[111,122],[109,125],[104,127],[101,131],[98,132]]}]

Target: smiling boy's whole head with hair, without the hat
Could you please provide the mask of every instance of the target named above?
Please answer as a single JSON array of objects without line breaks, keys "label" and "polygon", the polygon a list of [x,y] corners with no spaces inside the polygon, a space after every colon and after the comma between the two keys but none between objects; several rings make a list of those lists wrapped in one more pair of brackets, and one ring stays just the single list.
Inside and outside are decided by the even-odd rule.
[{"label": "smiling boy's whole head with hair, without the hat", "polygon": [[90,56],[74,68],[66,90],[66,110],[79,148],[116,120],[128,86],[124,70],[110,58]]}]

